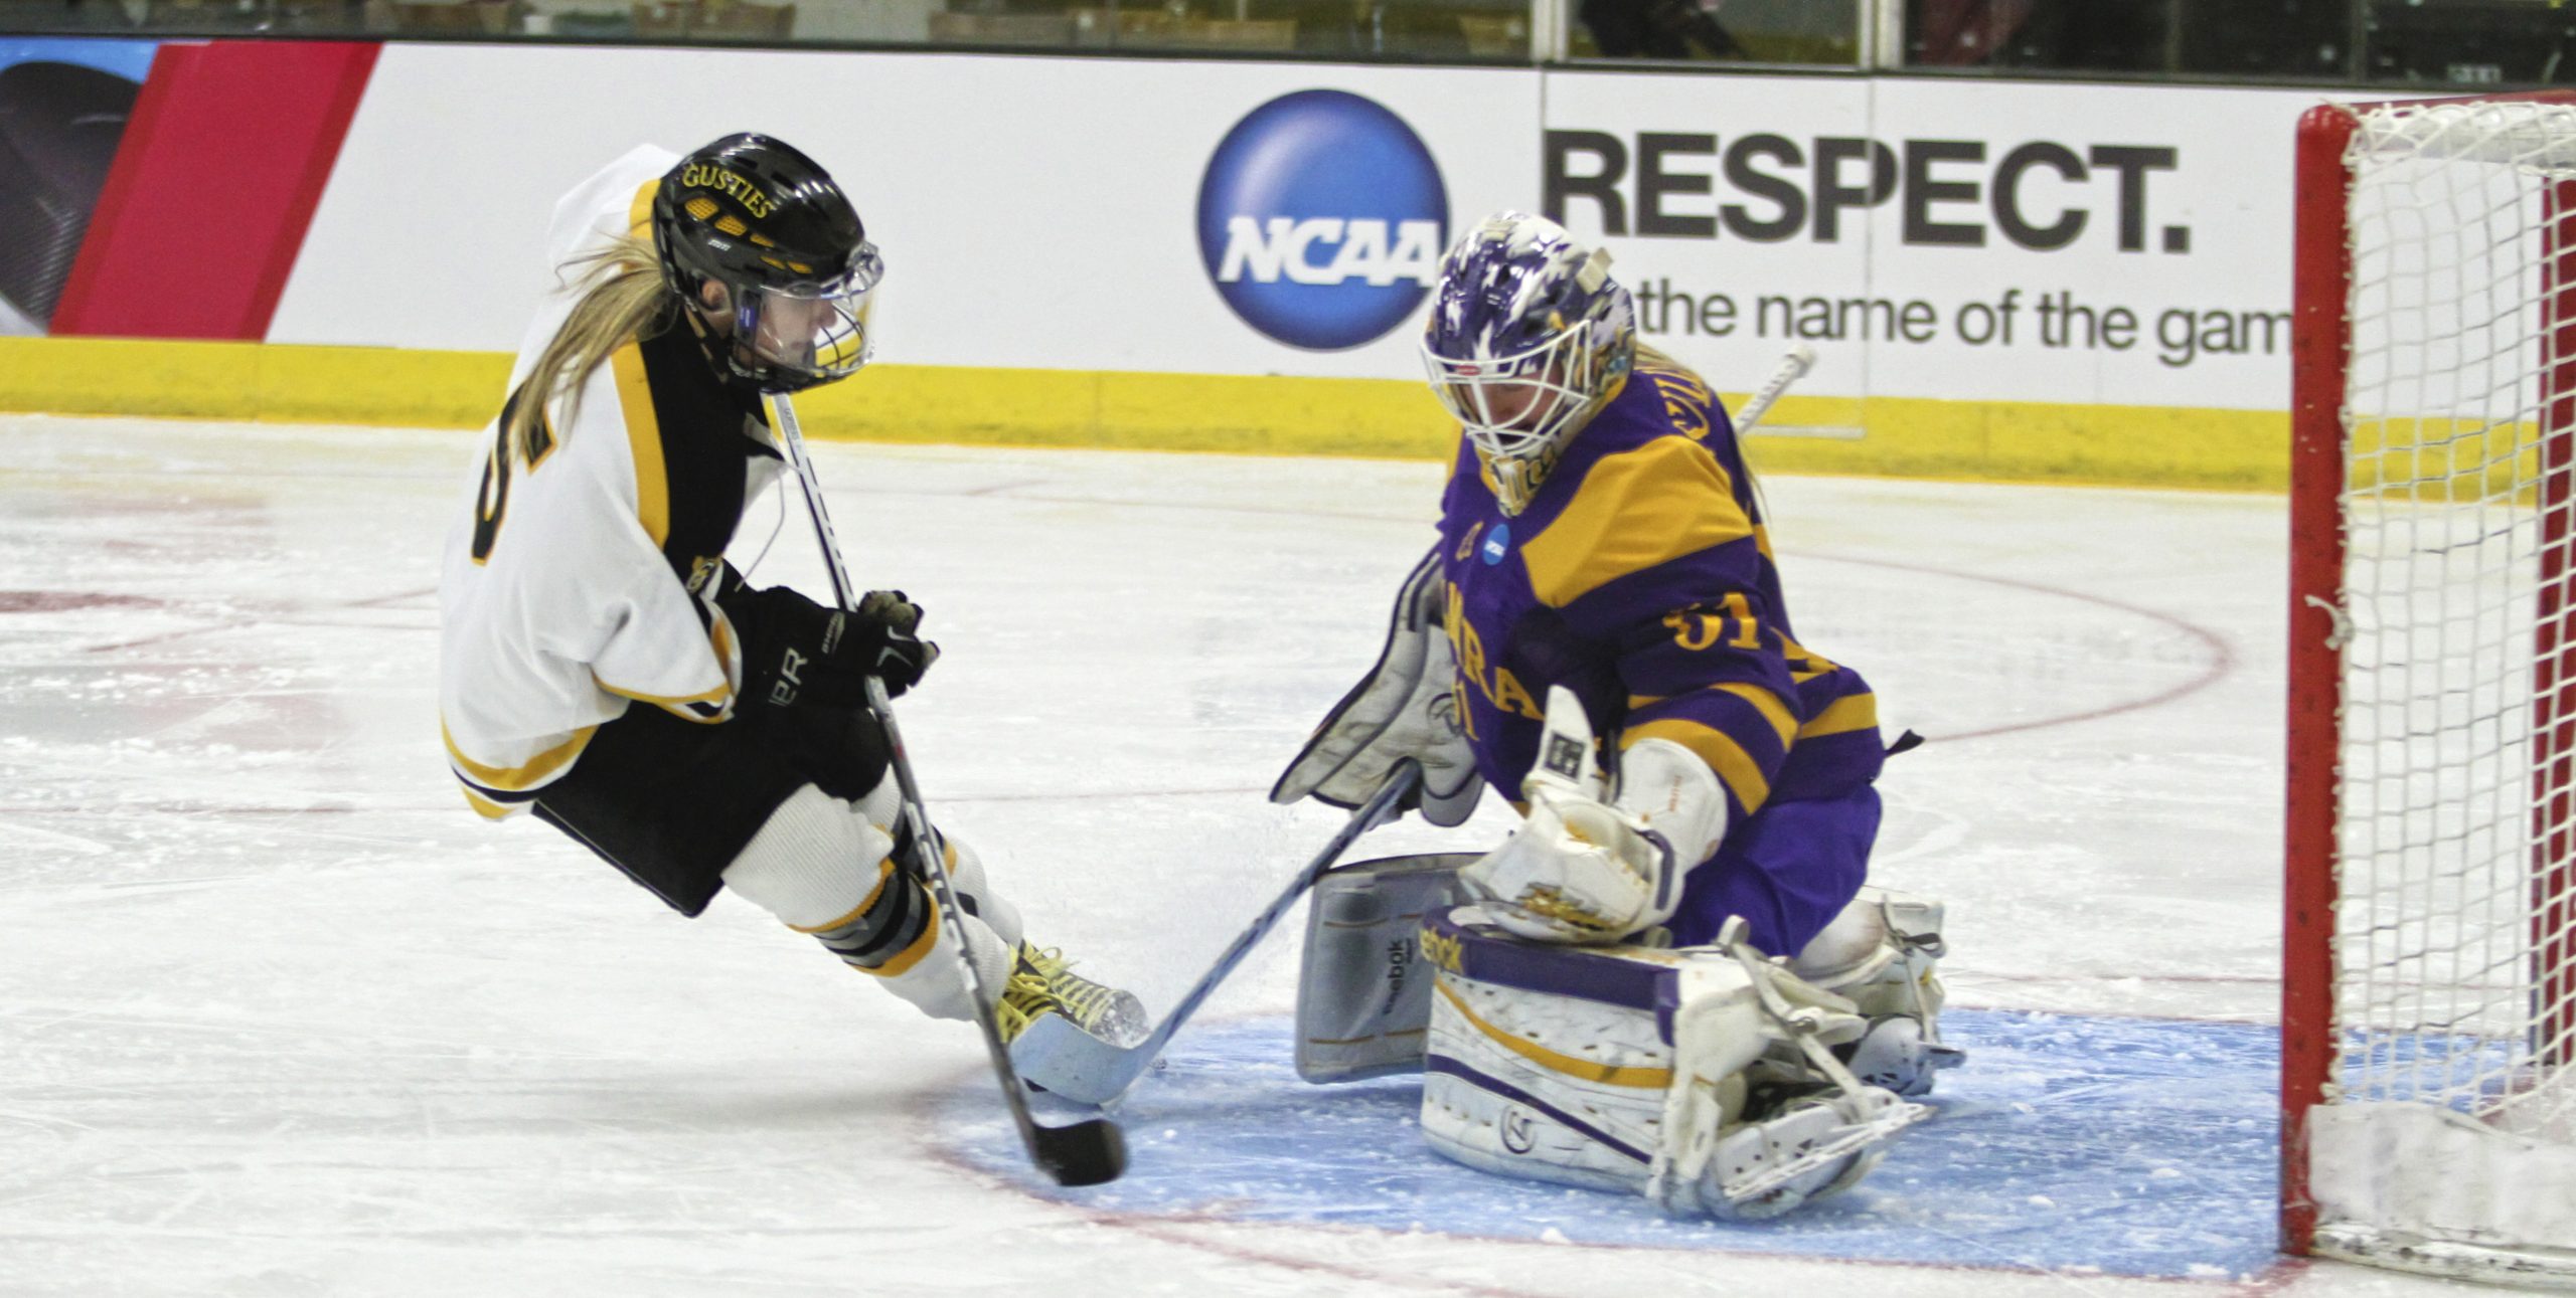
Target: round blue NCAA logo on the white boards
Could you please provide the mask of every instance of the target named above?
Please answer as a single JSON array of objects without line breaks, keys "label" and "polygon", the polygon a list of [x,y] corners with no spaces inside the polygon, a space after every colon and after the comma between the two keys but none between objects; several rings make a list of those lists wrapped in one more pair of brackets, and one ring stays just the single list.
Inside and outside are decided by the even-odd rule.
[{"label": "round blue NCAA logo on the white boards", "polygon": [[1244,324],[1306,350],[1386,337],[1430,294],[1448,188],[1422,136],[1342,90],[1236,121],[1198,183],[1198,258]]}]

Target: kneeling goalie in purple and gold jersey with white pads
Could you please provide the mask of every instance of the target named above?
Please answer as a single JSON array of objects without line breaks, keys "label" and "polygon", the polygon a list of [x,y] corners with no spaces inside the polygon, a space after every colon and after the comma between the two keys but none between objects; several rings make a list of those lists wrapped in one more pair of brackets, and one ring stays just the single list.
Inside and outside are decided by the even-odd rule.
[{"label": "kneeling goalie in purple and gold jersey with white pads", "polygon": [[1940,907],[1865,886],[1875,695],[1798,641],[1726,409],[1638,345],[1605,250],[1481,221],[1422,350],[1463,430],[1440,538],[1275,796],[1414,757],[1435,824],[1520,798],[1422,925],[1432,1146],[1680,1213],[1855,1185],[1958,1058]]}]

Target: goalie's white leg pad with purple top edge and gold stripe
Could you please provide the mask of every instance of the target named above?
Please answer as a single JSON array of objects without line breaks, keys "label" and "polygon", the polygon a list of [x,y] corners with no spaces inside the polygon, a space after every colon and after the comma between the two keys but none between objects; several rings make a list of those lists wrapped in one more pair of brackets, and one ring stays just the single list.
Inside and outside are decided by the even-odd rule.
[{"label": "goalie's white leg pad with purple top edge and gold stripe", "polygon": [[1929,1110],[1832,1053],[1868,1022],[1744,943],[1561,948],[1432,917],[1422,1131],[1468,1167],[1765,1218],[1860,1182]]}]

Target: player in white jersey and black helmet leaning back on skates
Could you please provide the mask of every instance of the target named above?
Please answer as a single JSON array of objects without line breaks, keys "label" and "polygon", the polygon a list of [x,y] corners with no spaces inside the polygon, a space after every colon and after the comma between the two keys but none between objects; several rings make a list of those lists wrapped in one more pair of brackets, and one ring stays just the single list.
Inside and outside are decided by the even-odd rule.
[{"label": "player in white jersey and black helmet leaning back on skates", "polygon": [[[520,343],[440,577],[466,801],[536,814],[680,914],[732,889],[922,1012],[974,1017],[863,693],[938,659],[920,605],[845,616],[724,559],[781,471],[762,397],[868,358],[884,263],[858,211],[806,155],[734,134],[616,160],[556,203],[549,252],[567,291]],[[933,837],[1005,1040],[1043,1015],[1144,1028]]]}]

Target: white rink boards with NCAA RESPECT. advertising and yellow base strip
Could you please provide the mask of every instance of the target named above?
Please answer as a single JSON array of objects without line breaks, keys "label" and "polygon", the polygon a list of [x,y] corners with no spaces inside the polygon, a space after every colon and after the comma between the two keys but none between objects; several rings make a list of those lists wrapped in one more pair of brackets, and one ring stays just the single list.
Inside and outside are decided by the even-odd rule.
[{"label": "white rink boards with NCAA RESPECT. advertising and yellow base strip", "polygon": [[[757,126],[848,178],[889,263],[878,361],[811,394],[817,435],[1437,456],[1419,312],[1345,343],[1419,301],[1406,221],[1540,206],[1721,391],[1819,350],[1775,469],[2285,482],[2318,90],[374,41],[0,62],[149,67],[49,327],[0,312],[0,409],[482,425],[554,198]],[[1358,183],[1280,175],[1352,147]],[[1260,240],[1221,283],[1206,232],[1236,219]]]}]

